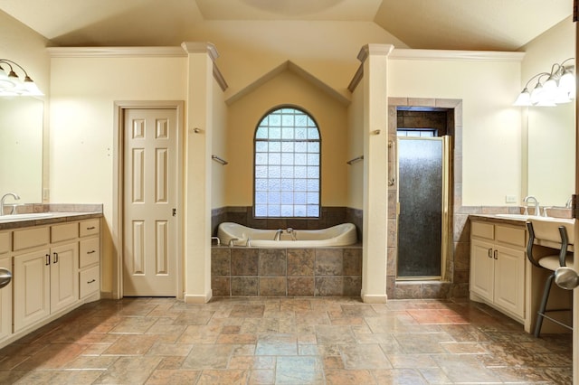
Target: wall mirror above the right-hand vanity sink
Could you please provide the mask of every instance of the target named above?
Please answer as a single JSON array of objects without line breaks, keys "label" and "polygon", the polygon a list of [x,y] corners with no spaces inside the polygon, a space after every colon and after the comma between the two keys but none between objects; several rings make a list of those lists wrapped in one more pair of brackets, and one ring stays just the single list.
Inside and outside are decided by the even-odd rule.
[{"label": "wall mirror above the right-hand vanity sink", "polygon": [[528,186],[541,206],[564,207],[575,183],[575,103],[528,108]]}]

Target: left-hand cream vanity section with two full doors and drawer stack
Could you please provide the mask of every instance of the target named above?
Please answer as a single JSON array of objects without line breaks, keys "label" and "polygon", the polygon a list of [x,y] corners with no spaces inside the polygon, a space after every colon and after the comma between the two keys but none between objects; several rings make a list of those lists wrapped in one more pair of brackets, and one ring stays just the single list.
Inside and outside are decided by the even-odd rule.
[{"label": "left-hand cream vanity section with two full doors and drawer stack", "polygon": [[100,219],[24,228],[11,235],[14,333],[33,330],[100,297]]}]

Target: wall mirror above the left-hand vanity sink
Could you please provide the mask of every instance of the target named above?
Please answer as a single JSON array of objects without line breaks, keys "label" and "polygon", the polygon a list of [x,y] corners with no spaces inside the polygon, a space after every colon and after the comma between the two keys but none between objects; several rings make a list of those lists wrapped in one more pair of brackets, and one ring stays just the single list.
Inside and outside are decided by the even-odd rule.
[{"label": "wall mirror above the left-hand vanity sink", "polygon": [[15,192],[18,203],[43,201],[43,107],[33,97],[0,98],[0,196]]}]

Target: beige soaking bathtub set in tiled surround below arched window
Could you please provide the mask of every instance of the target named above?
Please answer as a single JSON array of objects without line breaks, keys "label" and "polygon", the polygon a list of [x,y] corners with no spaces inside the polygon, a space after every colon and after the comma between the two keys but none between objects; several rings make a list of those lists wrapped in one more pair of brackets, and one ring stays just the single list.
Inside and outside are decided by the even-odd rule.
[{"label": "beige soaking bathtub set in tiled surround below arched window", "polygon": [[[282,231],[280,239],[274,240],[278,231]],[[217,228],[217,237],[223,245],[257,248],[317,248],[348,246],[357,242],[356,226],[353,223],[342,223],[322,230],[260,230],[223,222]]]}]

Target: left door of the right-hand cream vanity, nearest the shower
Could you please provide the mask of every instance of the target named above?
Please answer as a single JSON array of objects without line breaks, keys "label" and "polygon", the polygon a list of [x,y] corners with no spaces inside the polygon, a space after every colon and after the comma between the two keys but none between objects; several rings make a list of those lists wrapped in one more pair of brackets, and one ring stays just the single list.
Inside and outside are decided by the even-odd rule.
[{"label": "left door of the right-hand cream vanity, nearest the shower", "polygon": [[483,240],[470,241],[470,290],[489,301],[494,297],[494,247]]}]

